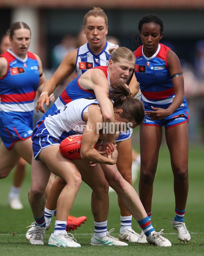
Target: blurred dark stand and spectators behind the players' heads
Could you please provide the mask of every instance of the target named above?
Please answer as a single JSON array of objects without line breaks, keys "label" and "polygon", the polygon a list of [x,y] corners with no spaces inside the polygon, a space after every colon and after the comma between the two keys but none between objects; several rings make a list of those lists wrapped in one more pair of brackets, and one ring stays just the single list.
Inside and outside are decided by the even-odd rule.
[{"label": "blurred dark stand and spectators behind the players' heads", "polygon": [[[0,37],[16,21],[31,28],[29,51],[40,56],[46,78],[64,56],[86,41],[84,15],[93,6],[108,17],[108,36],[120,46],[135,51],[138,21],[146,14],[158,15],[164,22],[161,43],[171,47],[181,60],[185,96],[189,105],[189,140],[204,140],[204,1],[203,0],[0,0]],[[108,37],[107,37],[107,40]],[[111,39],[110,39],[111,40]]]}]

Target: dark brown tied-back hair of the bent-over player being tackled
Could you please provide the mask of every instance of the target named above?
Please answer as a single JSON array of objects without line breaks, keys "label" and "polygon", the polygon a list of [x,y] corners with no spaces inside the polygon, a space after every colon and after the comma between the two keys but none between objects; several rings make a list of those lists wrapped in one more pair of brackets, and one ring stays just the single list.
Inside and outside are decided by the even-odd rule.
[{"label": "dark brown tied-back hair of the bent-over player being tackled", "polygon": [[137,125],[143,123],[145,118],[145,108],[141,100],[131,98],[128,87],[121,84],[111,85],[109,99],[114,101],[114,108],[122,109],[122,117],[128,120],[134,119]]}]

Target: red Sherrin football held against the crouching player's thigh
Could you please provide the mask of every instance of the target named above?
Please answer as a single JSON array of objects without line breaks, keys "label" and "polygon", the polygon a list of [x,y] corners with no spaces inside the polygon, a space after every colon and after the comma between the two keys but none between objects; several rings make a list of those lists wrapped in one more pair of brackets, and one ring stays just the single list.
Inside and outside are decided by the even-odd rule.
[{"label": "red Sherrin football held against the crouching player's thigh", "polygon": [[60,143],[60,152],[69,159],[81,159],[82,134],[75,134],[67,137]]}]

